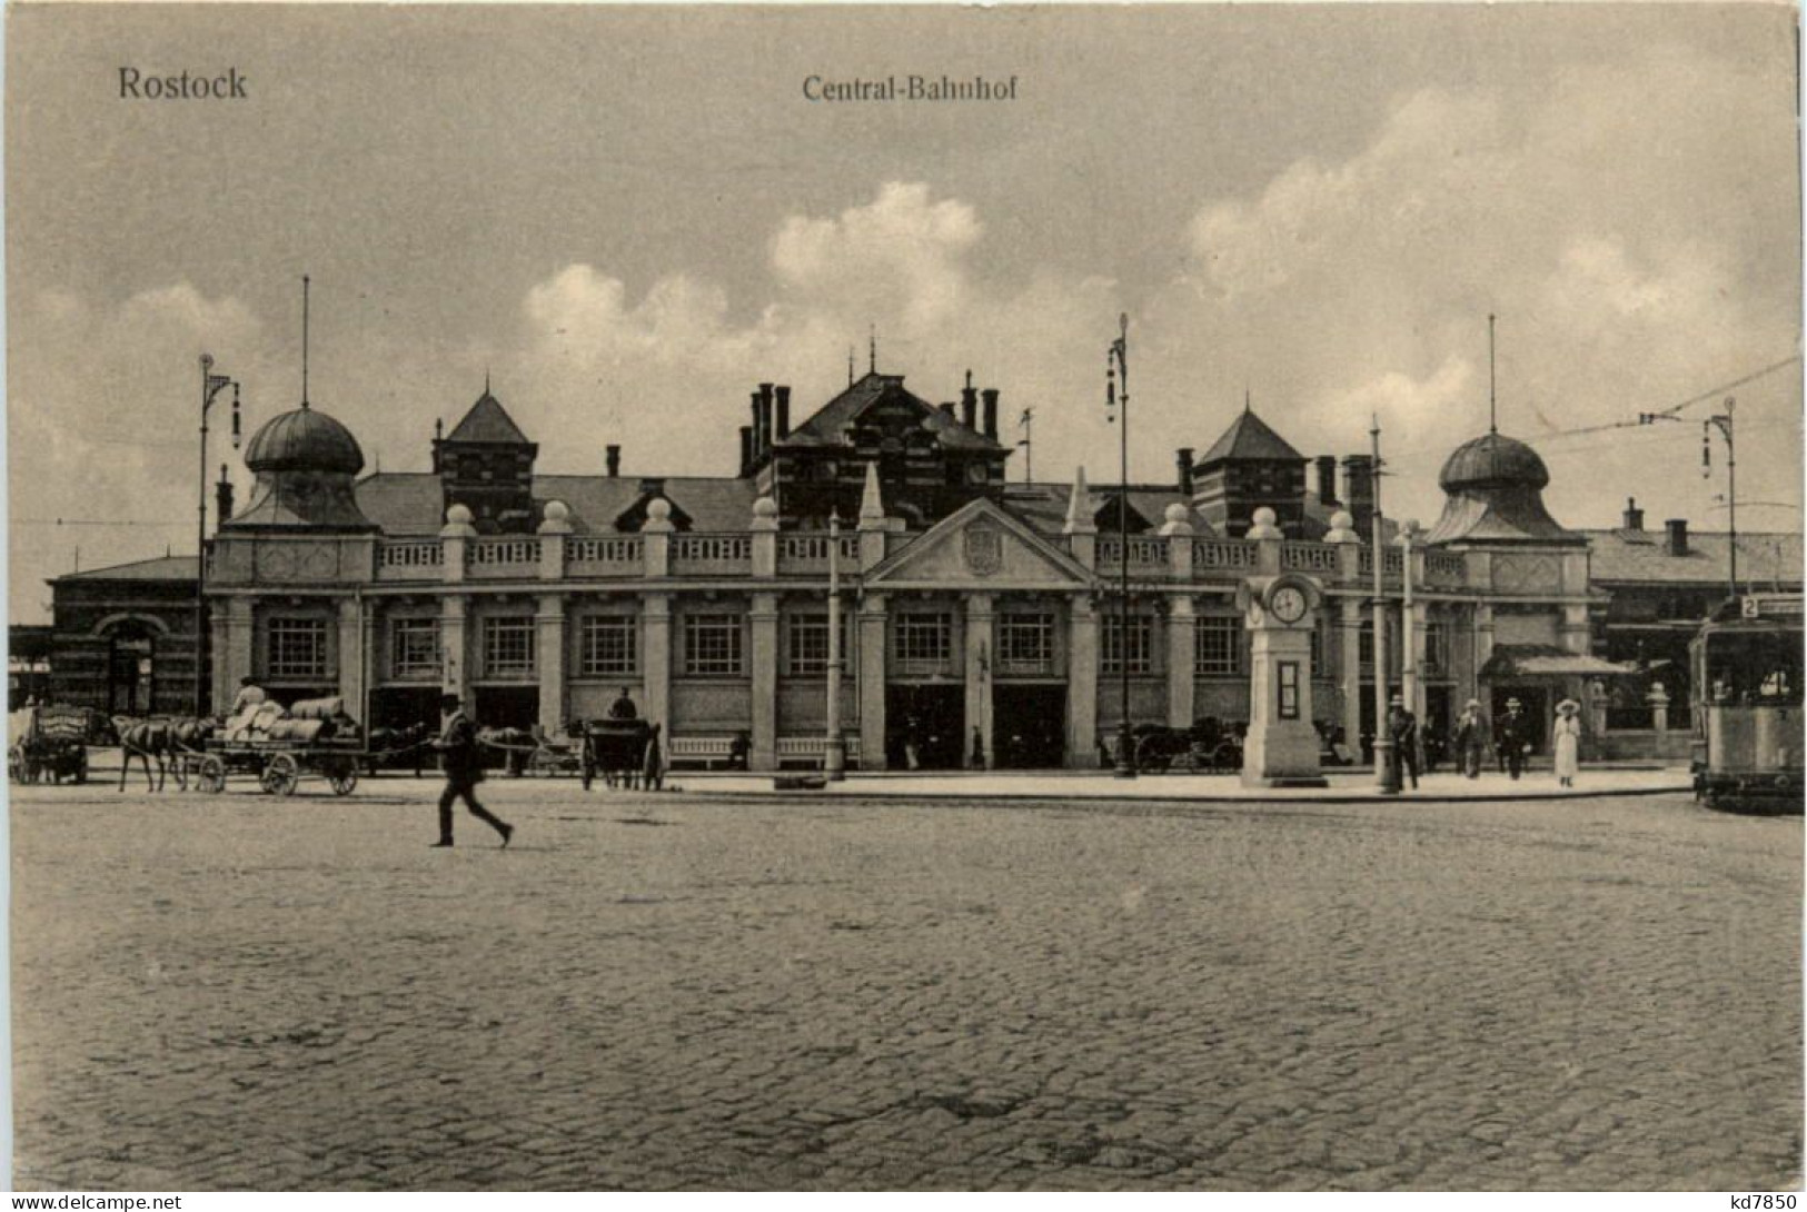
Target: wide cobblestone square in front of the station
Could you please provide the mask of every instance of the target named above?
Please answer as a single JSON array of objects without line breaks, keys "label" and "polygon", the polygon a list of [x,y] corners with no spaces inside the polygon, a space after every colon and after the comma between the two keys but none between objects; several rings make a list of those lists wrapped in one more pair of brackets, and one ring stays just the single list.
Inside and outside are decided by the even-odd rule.
[{"label": "wide cobblestone square in front of the station", "polygon": [[16,1181],[1774,1189],[1802,820],[13,804]]}]

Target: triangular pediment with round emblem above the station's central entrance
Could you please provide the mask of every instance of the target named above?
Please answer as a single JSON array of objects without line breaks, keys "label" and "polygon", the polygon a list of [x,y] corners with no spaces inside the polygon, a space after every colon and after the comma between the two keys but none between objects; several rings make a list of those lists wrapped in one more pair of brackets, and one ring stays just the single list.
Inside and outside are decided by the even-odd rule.
[{"label": "triangular pediment with round emblem above the station's central entrance", "polygon": [[1021,518],[974,500],[873,569],[866,585],[1079,591],[1091,587],[1091,573]]}]

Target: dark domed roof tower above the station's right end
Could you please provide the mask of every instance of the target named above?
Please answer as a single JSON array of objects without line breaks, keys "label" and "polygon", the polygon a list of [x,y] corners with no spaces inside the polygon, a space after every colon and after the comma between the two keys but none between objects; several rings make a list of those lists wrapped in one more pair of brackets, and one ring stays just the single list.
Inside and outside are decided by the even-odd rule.
[{"label": "dark domed roof tower above the station's right end", "polygon": [[1585,545],[1543,508],[1549,482],[1549,468],[1525,443],[1498,432],[1462,443],[1437,477],[1447,500],[1424,542]]}]

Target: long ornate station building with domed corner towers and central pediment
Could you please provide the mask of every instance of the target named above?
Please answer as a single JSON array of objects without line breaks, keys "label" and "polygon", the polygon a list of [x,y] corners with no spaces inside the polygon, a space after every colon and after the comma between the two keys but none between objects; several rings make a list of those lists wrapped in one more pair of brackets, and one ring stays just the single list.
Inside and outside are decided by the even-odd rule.
[{"label": "long ornate station building with domed corner towers and central pediment", "polygon": [[755,769],[813,764],[831,560],[840,717],[866,769],[905,746],[925,766],[974,748],[1003,768],[1097,766],[1124,668],[1137,724],[1247,721],[1236,592],[1281,573],[1321,591],[1312,713],[1352,753],[1373,732],[1377,562],[1388,683],[1409,634],[1431,726],[1469,697],[1547,721],[1624,672],[1596,654],[1590,536],[1543,508],[1549,471],[1523,443],[1460,446],[1437,524],[1413,542],[1388,526],[1375,549],[1372,461],[1308,459],[1252,410],[1202,455],[1180,448],[1171,482],[1128,489],[1006,482],[997,410],[970,374],[936,405],[875,370],[791,424],[790,388],[759,385],[725,450],[734,475],[625,475],[620,446],[595,475],[542,475],[486,388],[435,430],[428,471],[365,475],[351,430],[304,405],[251,439],[251,500],[210,545],[213,701],[253,676],[396,724],[452,688],[481,723],[560,730],[627,688],[674,760],[746,733]]}]

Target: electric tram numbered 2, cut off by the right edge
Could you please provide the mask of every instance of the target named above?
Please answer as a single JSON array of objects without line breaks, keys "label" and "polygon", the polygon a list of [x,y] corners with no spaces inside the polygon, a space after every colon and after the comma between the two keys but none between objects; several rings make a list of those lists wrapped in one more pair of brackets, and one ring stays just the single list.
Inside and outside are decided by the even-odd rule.
[{"label": "electric tram numbered 2, cut off by the right edge", "polygon": [[1740,813],[1800,813],[1802,598],[1729,598],[1688,656],[1695,798]]}]

